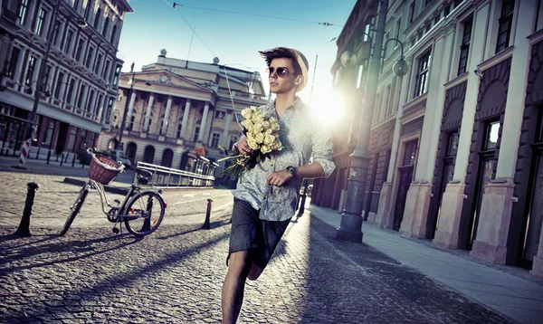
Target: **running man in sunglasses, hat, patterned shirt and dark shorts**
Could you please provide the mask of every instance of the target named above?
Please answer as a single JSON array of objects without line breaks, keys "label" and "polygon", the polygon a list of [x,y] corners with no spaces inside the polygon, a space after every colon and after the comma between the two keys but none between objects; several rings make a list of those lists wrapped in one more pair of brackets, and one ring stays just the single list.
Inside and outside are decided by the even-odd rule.
[{"label": "running man in sunglasses, hat, patterned shirt and dark shorts", "polygon": [[[246,279],[258,279],[270,262],[294,214],[301,180],[328,177],[335,168],[329,129],[318,125],[309,106],[296,96],[307,84],[308,61],[301,52],[285,47],[260,53],[268,65],[270,90],[276,94],[260,109],[279,119],[283,149],[246,171],[233,192],[223,323],[237,321]],[[235,148],[245,155],[252,153],[245,138]]]}]

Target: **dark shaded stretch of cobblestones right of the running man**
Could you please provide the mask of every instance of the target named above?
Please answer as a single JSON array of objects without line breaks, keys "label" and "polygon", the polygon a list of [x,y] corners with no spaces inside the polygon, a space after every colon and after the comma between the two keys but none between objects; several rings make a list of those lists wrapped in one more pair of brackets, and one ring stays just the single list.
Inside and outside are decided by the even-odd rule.
[{"label": "dark shaded stretch of cobblestones right of the running man", "polygon": [[510,323],[366,243],[336,239],[336,229],[310,220],[303,323]]}]

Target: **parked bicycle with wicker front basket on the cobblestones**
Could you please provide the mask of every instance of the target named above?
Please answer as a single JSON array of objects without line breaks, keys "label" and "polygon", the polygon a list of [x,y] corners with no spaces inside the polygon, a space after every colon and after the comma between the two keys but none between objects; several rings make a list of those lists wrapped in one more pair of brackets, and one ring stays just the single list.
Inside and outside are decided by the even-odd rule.
[{"label": "parked bicycle with wicker front basket on the cobblestones", "polygon": [[[90,190],[98,191],[102,212],[106,214],[111,223],[115,223],[112,229],[113,233],[119,233],[120,225],[119,228],[117,228],[117,225],[122,222],[124,222],[129,233],[135,236],[146,236],[155,232],[162,223],[167,204],[159,191],[141,191],[141,185],[147,185],[148,178],[152,174],[147,170],[136,168],[134,172],[137,176],[134,177],[129,193],[123,202],[121,203],[115,199],[113,202],[117,205],[111,205],[104,191],[104,185],[109,185],[119,173],[124,172],[124,166],[122,163],[117,163],[108,157],[94,154],[92,148],[87,149],[87,152],[90,153],[91,157],[89,180],[81,187],[79,195],[71,205],[71,213],[62,227],[61,236],[70,229],[71,223],[75,216],[80,213],[81,206]],[[110,207],[110,211],[106,212],[104,203]]]}]

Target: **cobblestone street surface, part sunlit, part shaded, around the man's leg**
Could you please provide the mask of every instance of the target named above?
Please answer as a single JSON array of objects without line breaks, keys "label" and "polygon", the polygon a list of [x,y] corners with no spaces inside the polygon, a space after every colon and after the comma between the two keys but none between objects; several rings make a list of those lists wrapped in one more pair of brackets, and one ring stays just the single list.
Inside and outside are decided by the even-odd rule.
[{"label": "cobblestone street surface, part sunlit, part shaded, around the man's leg", "polygon": [[[230,226],[169,224],[144,239],[100,228],[0,228],[0,322],[219,322]],[[258,281],[243,323],[509,323],[304,214]]]}]

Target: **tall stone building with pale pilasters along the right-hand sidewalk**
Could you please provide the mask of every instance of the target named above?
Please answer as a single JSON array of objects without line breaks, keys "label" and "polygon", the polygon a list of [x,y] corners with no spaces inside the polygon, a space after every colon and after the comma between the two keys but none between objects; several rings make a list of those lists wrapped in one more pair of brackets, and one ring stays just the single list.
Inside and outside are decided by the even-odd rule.
[{"label": "tall stone building with pale pilasters along the right-hand sidewalk", "polygon": [[[338,58],[365,46],[361,32],[377,6],[357,1]],[[390,0],[385,41],[392,38],[404,44],[410,71],[391,73],[400,48],[388,43],[367,222],[543,276],[542,1]],[[338,82],[349,76],[335,67]],[[316,186],[314,194],[340,189]]]}]

